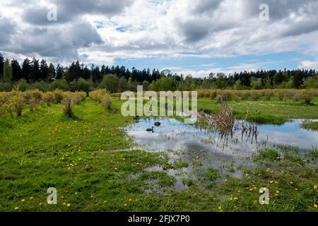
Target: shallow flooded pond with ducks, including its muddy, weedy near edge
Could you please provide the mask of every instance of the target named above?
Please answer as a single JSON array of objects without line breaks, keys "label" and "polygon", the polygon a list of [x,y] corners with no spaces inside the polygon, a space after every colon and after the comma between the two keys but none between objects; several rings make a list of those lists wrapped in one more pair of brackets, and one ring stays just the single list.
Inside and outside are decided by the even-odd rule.
[{"label": "shallow flooded pond with ducks, including its muddy, weedy near edge", "polygon": [[[155,122],[160,121],[160,126]],[[164,152],[175,160],[187,162],[182,169],[165,170],[177,178],[176,189],[184,188],[182,178],[198,179],[208,167],[218,169],[220,174],[242,177],[242,167],[252,169],[253,155],[266,148],[295,147],[300,155],[318,147],[318,132],[302,129],[302,119],[292,119],[281,126],[257,125],[256,136],[242,131],[221,134],[217,129],[198,124],[184,124],[173,118],[146,118],[125,128],[133,138],[134,149],[148,152]],[[240,121],[236,121],[240,124]],[[146,129],[154,126],[153,131]],[[149,171],[163,171],[160,166]],[[178,180],[179,179],[179,180]]]}]

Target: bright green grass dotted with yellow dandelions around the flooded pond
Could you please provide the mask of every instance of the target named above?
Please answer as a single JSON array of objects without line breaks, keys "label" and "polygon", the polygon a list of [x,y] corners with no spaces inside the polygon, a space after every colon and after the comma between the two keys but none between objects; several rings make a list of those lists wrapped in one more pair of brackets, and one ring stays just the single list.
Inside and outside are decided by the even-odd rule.
[{"label": "bright green grass dotted with yellow dandelions around the flooded pond", "polygon": [[[318,118],[318,102],[294,100],[230,101],[237,118],[282,123]],[[263,150],[250,161],[257,169],[241,168],[241,179],[220,175],[213,166],[199,182],[185,178],[187,189],[176,191],[175,178],[149,167],[182,168],[163,153],[129,150],[131,139],[122,127],[134,123],[86,98],[74,106],[76,117],[64,116],[61,105],[25,110],[21,117],[0,117],[1,211],[317,211],[317,150],[310,164],[291,148]],[[218,111],[216,100],[199,99],[199,109]],[[289,153],[278,158],[281,153]],[[192,162],[189,162],[192,164]],[[193,165],[196,167],[196,165]],[[269,205],[260,205],[259,188],[271,191]],[[55,187],[57,205],[47,204]]]}]

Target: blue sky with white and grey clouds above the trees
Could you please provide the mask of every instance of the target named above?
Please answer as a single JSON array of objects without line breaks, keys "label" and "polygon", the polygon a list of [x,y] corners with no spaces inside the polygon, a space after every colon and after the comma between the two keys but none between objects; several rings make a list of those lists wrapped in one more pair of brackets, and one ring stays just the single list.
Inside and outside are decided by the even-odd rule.
[{"label": "blue sky with white and grey clouds above the trees", "polygon": [[318,69],[318,1],[0,0],[0,52],[193,76]]}]

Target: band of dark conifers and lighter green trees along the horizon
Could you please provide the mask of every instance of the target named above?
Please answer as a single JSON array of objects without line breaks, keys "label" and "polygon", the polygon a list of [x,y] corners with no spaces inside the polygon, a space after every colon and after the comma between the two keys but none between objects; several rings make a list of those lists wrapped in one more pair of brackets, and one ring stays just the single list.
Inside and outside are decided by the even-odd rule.
[{"label": "band of dark conifers and lighter green trees along the horizon", "polygon": [[96,88],[107,88],[112,93],[136,90],[197,90],[197,89],[266,89],[266,88],[318,88],[317,71],[310,70],[259,70],[241,71],[225,75],[210,73],[206,78],[171,73],[169,70],[135,68],[125,66],[90,67],[73,62],[69,66],[50,63],[45,59],[26,58],[20,65],[18,60],[4,59],[0,54],[0,91],[9,91],[13,85],[20,90],[42,91],[61,89],[88,92]]}]

